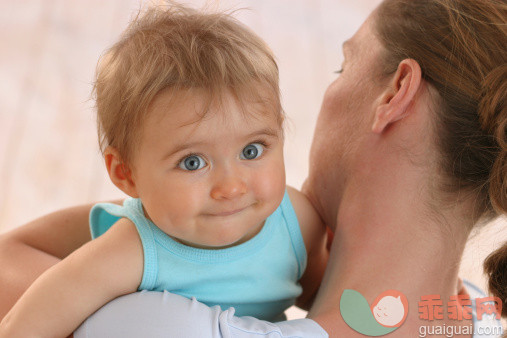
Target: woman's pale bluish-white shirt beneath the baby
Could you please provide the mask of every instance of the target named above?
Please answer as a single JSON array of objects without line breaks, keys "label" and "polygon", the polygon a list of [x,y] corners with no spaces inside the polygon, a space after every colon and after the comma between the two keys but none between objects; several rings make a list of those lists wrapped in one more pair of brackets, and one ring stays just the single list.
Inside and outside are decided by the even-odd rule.
[{"label": "woman's pale bluish-white shirt beneath the baby", "polygon": [[[472,299],[473,338],[501,337],[494,315],[477,320],[475,298],[486,297],[474,284],[463,281]],[[387,335],[386,337],[388,337]],[[75,338],[185,337],[185,338],[325,338],[328,334],[311,319],[270,323],[253,317],[236,317],[194,299],[165,292],[136,292],[119,297],[90,316]]]}]

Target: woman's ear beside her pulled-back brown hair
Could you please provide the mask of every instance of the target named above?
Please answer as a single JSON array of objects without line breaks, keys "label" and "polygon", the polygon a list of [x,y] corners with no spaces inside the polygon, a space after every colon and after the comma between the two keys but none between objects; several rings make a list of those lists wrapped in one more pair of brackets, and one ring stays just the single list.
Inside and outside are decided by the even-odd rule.
[{"label": "woman's ear beside her pulled-back brown hair", "polygon": [[421,86],[421,76],[421,67],[417,61],[405,59],[400,62],[375,111],[372,126],[374,133],[382,133],[389,124],[409,114],[410,106]]}]

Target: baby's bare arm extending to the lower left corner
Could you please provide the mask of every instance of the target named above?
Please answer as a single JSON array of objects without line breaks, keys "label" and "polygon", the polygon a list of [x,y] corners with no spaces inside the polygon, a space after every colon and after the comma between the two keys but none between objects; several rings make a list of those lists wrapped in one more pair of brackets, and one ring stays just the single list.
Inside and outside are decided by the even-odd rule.
[{"label": "baby's bare arm extending to the lower left corner", "polygon": [[137,290],[143,274],[135,226],[119,220],[39,277],[0,324],[1,337],[66,337],[110,300]]}]

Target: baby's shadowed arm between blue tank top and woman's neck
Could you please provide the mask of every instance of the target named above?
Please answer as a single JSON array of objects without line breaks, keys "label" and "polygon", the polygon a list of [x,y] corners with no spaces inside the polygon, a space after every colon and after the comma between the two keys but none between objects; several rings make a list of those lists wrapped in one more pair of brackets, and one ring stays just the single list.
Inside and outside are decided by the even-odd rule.
[{"label": "baby's shadowed arm between blue tank top and woman's neck", "polygon": [[306,270],[299,281],[303,293],[296,300],[296,305],[308,310],[319,290],[329,258],[329,251],[326,248],[326,226],[302,192],[292,187],[287,187],[287,191],[296,211],[308,255]]}]

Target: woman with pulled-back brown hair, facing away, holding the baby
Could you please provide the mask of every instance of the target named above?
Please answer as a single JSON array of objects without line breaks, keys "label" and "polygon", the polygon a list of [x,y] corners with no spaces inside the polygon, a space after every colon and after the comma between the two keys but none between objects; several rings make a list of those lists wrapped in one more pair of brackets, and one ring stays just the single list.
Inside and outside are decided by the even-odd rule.
[{"label": "woman with pulled-back brown hair, facing away, holding the baby", "polygon": [[[407,297],[409,309],[391,335],[411,337],[429,323],[419,318],[421,296],[438,295],[446,304],[453,295],[472,293],[457,286],[466,239],[479,222],[507,213],[506,7],[493,0],[385,0],[344,44],[342,72],[324,96],[304,186],[335,231],[330,262],[309,312],[312,321],[268,327],[281,335],[323,336],[324,329],[330,336],[353,336],[357,332],[340,311],[343,291],[357,290],[371,303],[395,289]],[[13,283],[27,287],[88,241],[88,211],[89,206],[62,211],[4,236],[2,266],[15,273],[3,273],[3,289]],[[74,241],[56,245],[60,236]],[[499,297],[506,299],[500,266],[507,257],[501,252],[488,268],[492,280],[500,281]],[[21,273],[7,259],[14,256],[24,262],[23,272],[34,271],[31,276],[9,277]],[[169,336],[181,330],[187,336],[234,335],[235,325],[266,332],[266,323],[245,324],[231,312],[164,297],[171,300],[165,308],[174,310],[167,313],[179,316],[166,322]],[[136,316],[143,302],[141,312],[157,304],[137,302]],[[90,318],[85,329],[100,327],[103,318],[114,326],[110,320],[120,311],[114,304]],[[137,325],[153,336],[147,317],[137,318]],[[429,324],[481,325],[447,315]],[[111,332],[121,328],[116,329]]]}]

